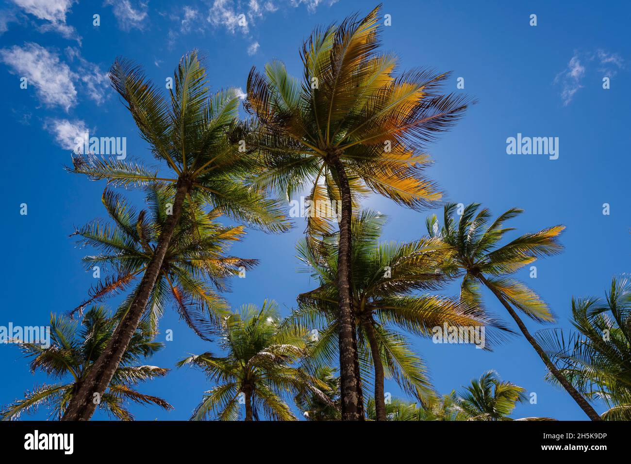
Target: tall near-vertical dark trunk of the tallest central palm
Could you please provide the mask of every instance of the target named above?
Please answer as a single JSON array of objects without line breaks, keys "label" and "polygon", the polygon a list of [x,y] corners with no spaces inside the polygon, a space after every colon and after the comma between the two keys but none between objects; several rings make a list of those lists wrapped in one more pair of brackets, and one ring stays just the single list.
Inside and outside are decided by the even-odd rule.
[{"label": "tall near-vertical dark trunk of the tallest central palm", "polygon": [[342,420],[363,420],[360,416],[358,382],[353,346],[353,310],[351,308],[351,216],[353,202],[344,165],[336,153],[329,157],[338,175],[342,200],[339,219],[338,293],[339,293],[339,377],[342,393]]}]

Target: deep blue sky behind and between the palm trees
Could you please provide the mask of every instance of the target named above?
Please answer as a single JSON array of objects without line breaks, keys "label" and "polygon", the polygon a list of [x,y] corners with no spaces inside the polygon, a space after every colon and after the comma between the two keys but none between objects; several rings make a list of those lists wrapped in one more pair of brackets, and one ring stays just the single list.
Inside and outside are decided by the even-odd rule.
[{"label": "deep blue sky behind and between the palm trees", "polygon": [[[298,47],[315,25],[355,11],[367,13],[372,6],[345,0],[6,1],[0,7],[5,134],[0,235],[6,263],[0,270],[0,325],[45,325],[51,312],[71,310],[95,283],[80,264],[86,250],[76,248],[68,235],[74,226],[104,216],[104,183],[63,170],[74,136],[87,129],[95,136],[127,137],[127,153],[153,163],[107,83],[115,57],[133,59],[163,83],[180,56],[198,48],[208,57],[211,88],[244,89],[249,69],[275,57],[300,75]],[[567,226],[565,252],[538,262],[536,279],[527,271],[519,275],[550,304],[561,327],[569,325],[572,295],[601,296],[612,275],[628,271],[630,12],[623,2],[606,8],[587,2],[571,8],[560,2],[384,2],[383,13],[391,15],[384,49],[398,52],[401,67],[453,71],[448,90],[480,100],[430,146],[435,165],[428,175],[455,202],[481,202],[495,214],[514,206],[525,209],[513,224],[519,231]],[[95,14],[99,26],[93,25]],[[536,26],[529,25],[533,14]],[[239,15],[245,15],[247,25],[239,24]],[[28,79],[26,89],[20,88],[22,77]],[[464,90],[456,88],[459,77]],[[607,90],[604,77],[610,78]],[[558,137],[558,159],[507,154],[507,137],[518,133]],[[128,195],[139,199],[137,193]],[[20,215],[22,203],[28,205],[27,216]],[[604,203],[610,205],[608,215]],[[425,232],[425,213],[379,197],[365,206],[389,216],[384,240],[413,240]],[[296,272],[293,244],[303,230],[298,222],[280,236],[251,231],[233,248],[237,255],[261,260],[245,279],[233,282],[227,294],[233,306],[272,298],[288,311],[298,293],[312,288],[309,276]],[[504,317],[497,301],[485,297],[488,308]],[[115,303],[109,304],[114,308]],[[532,331],[539,328],[527,324]],[[150,364],[172,368],[188,353],[216,351],[196,339],[175,311],[167,312],[160,328],[162,333],[174,330],[174,341]],[[519,405],[514,417],[586,419],[566,393],[545,383],[543,364],[522,338],[494,352],[422,339],[414,344],[438,391],[447,393],[496,369],[504,380],[537,393],[538,403]],[[3,404],[46,381],[43,374],[28,371],[15,346],[0,345],[0,366]],[[141,386],[175,410],[131,411],[137,419],[187,419],[208,388],[203,374],[175,369]],[[399,395],[392,382],[386,391]],[[43,419],[45,412],[32,417]]]}]

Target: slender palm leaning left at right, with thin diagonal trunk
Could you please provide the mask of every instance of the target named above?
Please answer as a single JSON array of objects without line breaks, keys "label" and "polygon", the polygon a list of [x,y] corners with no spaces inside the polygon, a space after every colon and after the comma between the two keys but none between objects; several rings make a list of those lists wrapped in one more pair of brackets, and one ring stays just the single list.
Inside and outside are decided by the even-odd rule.
[{"label": "slender palm leaning left at right, with thin diagonal trunk", "polygon": [[480,204],[472,203],[463,209],[457,223],[454,215],[457,205],[449,203],[444,207],[444,223],[439,228],[436,215],[427,218],[427,231],[433,238],[440,238],[452,246],[454,254],[441,266],[446,274],[462,277],[460,298],[463,301],[481,306],[480,283],[486,286],[502,303],[515,320],[519,330],[541,357],[550,373],[574,398],[575,402],[592,420],[600,420],[599,415],[558,371],[550,357],[543,351],[533,335],[528,331],[514,308],[522,311],[537,322],[553,322],[548,305],[532,289],[510,277],[522,267],[531,264],[539,257],[556,255],[563,249],[558,243],[558,235],[564,226],[553,226],[535,233],[527,233],[498,246],[505,233],[514,228],[504,228],[504,223],[523,212],[512,208],[501,214],[493,223],[488,209],[480,209]]}]

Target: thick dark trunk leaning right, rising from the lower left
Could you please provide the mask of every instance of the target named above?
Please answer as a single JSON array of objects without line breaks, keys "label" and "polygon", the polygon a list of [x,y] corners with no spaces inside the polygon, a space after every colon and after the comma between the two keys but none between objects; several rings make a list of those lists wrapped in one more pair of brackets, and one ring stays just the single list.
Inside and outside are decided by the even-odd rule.
[{"label": "thick dark trunk leaning right, rising from the lower left", "polygon": [[107,347],[105,347],[105,350],[91,367],[81,388],[71,399],[66,414],[61,420],[90,420],[95,409],[97,409],[99,401],[95,399],[94,394],[98,393],[98,398],[103,396],[103,392],[110,381],[112,381],[115,370],[121,363],[121,358],[127,349],[127,345],[129,345],[134,332],[138,328],[149,301],[149,296],[162,268],[162,262],[175,231],[175,226],[177,226],[180,216],[182,216],[182,204],[184,204],[184,198],[190,188],[190,180],[180,179],[177,182],[172,214],[165,221],[153,258],[151,258],[151,262],[144,271],[143,279],[138,287],[138,293],[129,306],[129,310],[116,327]]}]

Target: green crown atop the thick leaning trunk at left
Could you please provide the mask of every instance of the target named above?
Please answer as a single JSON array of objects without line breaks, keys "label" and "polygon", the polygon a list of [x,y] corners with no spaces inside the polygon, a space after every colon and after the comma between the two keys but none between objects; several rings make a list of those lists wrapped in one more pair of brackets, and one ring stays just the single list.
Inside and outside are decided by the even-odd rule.
[{"label": "green crown atop the thick leaning trunk at left", "polygon": [[131,61],[117,59],[109,76],[141,137],[155,158],[166,163],[169,174],[161,177],[158,170],[139,163],[92,154],[74,154],[71,171],[122,187],[186,183],[189,197],[223,214],[272,231],[287,228],[278,204],[243,182],[257,160],[241,142],[248,125],[239,121],[239,96],[234,89],[209,93],[197,51],[182,57],[168,98]]}]

